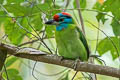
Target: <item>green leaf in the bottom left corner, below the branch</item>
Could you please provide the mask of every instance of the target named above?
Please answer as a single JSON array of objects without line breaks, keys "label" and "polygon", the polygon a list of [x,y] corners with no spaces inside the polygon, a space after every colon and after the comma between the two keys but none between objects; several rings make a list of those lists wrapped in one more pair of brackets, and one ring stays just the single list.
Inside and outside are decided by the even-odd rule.
[{"label": "green leaf in the bottom left corner, below the branch", "polygon": [[[7,74],[10,80],[23,80],[22,77],[19,75],[19,71],[17,69],[7,69]],[[3,73],[3,78],[7,80],[6,73]]]}]

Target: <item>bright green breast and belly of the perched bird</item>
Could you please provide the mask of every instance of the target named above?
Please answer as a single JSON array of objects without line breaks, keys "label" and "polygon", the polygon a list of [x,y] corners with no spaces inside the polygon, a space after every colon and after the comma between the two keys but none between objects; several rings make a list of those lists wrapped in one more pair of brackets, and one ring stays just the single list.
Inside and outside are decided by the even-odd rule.
[{"label": "bright green breast and belly of the perched bird", "polygon": [[56,33],[56,43],[60,56],[69,59],[87,60],[87,53],[74,30]]}]

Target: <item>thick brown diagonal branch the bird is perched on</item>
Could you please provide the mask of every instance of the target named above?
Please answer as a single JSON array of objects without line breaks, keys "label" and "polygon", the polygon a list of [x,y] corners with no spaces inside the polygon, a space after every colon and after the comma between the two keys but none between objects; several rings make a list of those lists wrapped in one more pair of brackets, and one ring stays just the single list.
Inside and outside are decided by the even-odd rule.
[{"label": "thick brown diagonal branch the bird is perched on", "polygon": [[[60,66],[74,69],[74,67],[72,66],[74,64],[74,60],[61,61],[62,57],[60,56],[47,54],[36,49],[19,48],[19,47],[7,45],[4,43],[0,43],[0,49],[1,50],[4,49],[8,52],[8,54],[11,54],[17,57],[49,63],[49,64],[60,65]],[[101,66],[101,65],[94,65],[87,62],[79,62],[76,70],[120,78],[120,70],[117,68],[109,67],[109,66]]]}]

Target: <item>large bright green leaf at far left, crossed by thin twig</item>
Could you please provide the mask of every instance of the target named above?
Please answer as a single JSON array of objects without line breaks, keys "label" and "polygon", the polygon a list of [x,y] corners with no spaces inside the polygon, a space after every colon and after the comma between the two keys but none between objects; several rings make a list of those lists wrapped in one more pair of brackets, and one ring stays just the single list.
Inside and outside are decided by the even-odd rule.
[{"label": "large bright green leaf at far left, crossed by thin twig", "polygon": [[[26,19],[22,18],[21,20],[18,19],[19,23],[26,28],[27,30],[31,31],[31,28],[26,25]],[[20,28],[12,19],[6,20],[4,24],[5,33],[8,35],[8,39],[11,41],[12,44],[18,45],[23,40],[24,36],[28,33]]]}]

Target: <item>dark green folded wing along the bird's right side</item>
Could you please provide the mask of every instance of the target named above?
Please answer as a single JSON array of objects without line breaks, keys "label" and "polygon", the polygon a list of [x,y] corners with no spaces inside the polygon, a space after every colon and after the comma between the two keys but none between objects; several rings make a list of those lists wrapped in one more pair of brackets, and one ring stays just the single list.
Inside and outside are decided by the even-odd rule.
[{"label": "dark green folded wing along the bird's right side", "polygon": [[83,45],[85,46],[85,48],[87,50],[87,57],[89,58],[89,53],[90,52],[89,52],[89,47],[88,47],[87,40],[86,40],[84,34],[82,33],[82,31],[78,27],[76,27],[76,30],[79,33],[80,40],[82,41]]}]

